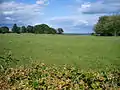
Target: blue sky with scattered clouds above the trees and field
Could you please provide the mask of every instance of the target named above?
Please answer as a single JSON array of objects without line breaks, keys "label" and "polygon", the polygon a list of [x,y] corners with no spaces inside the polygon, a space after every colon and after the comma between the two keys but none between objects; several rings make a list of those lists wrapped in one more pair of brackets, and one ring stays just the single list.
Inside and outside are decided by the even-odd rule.
[{"label": "blue sky with scattered clouds above the trees and field", "polygon": [[48,24],[91,33],[100,16],[120,14],[120,0],[0,0],[0,26]]}]

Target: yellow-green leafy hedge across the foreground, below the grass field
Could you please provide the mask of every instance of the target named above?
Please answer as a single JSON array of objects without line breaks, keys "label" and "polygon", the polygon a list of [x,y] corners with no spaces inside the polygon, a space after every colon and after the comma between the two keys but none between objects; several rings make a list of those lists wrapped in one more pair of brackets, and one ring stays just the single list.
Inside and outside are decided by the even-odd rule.
[{"label": "yellow-green leafy hedge across the foreground, below the grass field", "polygon": [[[32,63],[30,67],[12,68],[18,60],[11,54],[0,58],[0,90],[119,90],[120,70],[81,71],[70,65],[48,66]],[[5,66],[7,65],[7,67]]]}]

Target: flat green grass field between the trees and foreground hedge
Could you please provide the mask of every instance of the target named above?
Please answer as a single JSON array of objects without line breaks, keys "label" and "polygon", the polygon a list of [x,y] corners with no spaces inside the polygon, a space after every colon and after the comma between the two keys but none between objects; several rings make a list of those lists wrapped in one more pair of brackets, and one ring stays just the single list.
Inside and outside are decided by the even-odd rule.
[{"label": "flat green grass field between the trees and foreground hedge", "polygon": [[[46,64],[70,64],[82,69],[120,68],[120,37],[1,34],[0,55],[10,50]],[[27,64],[21,59],[21,64]]]}]

